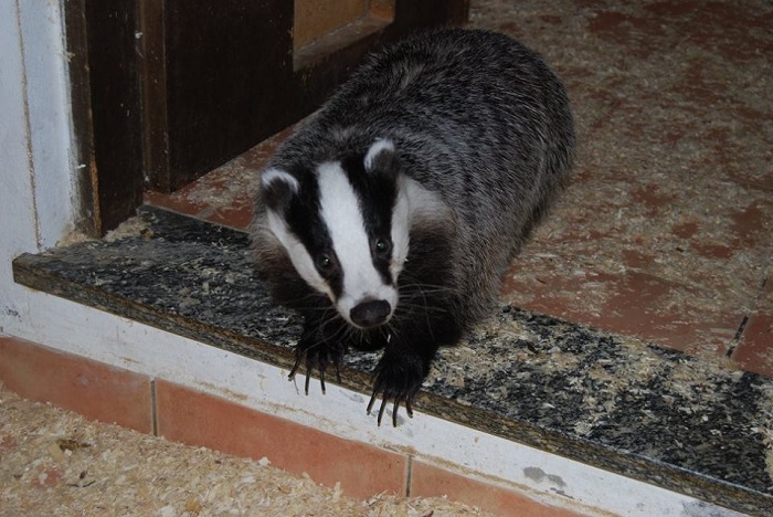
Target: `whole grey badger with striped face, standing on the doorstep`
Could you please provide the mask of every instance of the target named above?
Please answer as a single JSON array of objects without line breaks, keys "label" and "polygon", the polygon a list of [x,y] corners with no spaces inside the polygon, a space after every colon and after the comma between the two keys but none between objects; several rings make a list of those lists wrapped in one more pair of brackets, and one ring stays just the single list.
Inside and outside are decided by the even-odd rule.
[{"label": "whole grey badger with striped face, standing on the doorstep", "polygon": [[438,347],[487,317],[574,152],[565,89],[533,51],[481,30],[421,33],[366,59],[261,173],[253,243],[304,317],[289,372],[383,354],[370,414],[392,423]]}]

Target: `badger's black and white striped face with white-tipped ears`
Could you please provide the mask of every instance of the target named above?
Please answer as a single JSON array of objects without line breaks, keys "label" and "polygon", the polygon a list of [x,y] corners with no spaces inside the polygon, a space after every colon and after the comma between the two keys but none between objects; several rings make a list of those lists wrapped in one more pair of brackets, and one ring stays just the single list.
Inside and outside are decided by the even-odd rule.
[{"label": "badger's black and white striped face with white-tipped ears", "polygon": [[403,186],[388,140],[313,171],[262,176],[271,231],[304,281],[358,328],[385,324],[398,305],[409,246]]}]

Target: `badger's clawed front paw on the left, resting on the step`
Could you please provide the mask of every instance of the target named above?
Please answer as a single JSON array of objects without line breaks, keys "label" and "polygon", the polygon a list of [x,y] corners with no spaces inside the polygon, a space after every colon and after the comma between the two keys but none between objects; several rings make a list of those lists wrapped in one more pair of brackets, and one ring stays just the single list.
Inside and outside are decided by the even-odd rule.
[{"label": "badger's clawed front paw on the left, resting on the step", "polygon": [[332,365],[336,380],[340,384],[340,365],[347,352],[346,330],[342,323],[328,321],[327,324],[316,317],[306,317],[304,331],[295,347],[295,365],[287,376],[295,379],[295,374],[301,365],[306,366],[306,382],[304,390],[309,394],[311,374],[316,370],[319,373],[319,383],[325,394],[325,374],[328,366]]}]

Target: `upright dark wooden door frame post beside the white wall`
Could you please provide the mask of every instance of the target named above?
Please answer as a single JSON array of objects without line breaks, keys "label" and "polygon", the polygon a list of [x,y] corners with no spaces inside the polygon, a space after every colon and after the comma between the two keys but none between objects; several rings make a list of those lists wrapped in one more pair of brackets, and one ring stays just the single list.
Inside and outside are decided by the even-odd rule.
[{"label": "upright dark wooden door frame post beside the white wall", "polygon": [[80,163],[76,225],[86,235],[102,236],[142,201],[142,169],[134,159],[142,152],[138,84],[133,68],[113,66],[118,61],[136,63],[136,10],[133,0],[65,0],[63,6],[73,148]]}]

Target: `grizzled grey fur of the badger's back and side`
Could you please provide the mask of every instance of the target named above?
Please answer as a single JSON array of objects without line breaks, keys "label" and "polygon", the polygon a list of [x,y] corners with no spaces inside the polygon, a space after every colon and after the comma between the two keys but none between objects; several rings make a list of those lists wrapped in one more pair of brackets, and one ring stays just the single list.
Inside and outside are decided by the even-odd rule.
[{"label": "grizzled grey fur of the badger's back and side", "polygon": [[[422,256],[424,266],[409,255],[406,273],[428,274],[436,253],[448,264],[442,274],[457,317],[475,321],[569,173],[574,129],[563,86],[505,35],[424,33],[370,56],[272,166],[313,168],[380,138],[394,143],[402,171],[447,208],[438,231],[451,241]],[[412,251],[422,249],[422,231],[412,229]]]}]

